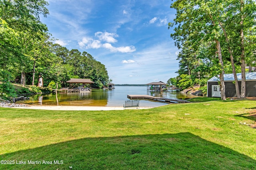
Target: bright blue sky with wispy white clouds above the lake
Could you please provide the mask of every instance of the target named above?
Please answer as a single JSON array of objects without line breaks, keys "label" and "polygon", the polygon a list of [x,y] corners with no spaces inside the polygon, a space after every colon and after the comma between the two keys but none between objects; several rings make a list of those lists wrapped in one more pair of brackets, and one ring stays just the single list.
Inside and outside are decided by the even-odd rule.
[{"label": "bright blue sky with wispy white clouds above the lake", "polygon": [[41,21],[69,50],[106,66],[114,84],[167,82],[176,77],[178,48],[168,22],[171,0],[48,0]]}]

